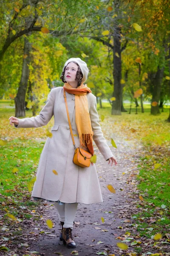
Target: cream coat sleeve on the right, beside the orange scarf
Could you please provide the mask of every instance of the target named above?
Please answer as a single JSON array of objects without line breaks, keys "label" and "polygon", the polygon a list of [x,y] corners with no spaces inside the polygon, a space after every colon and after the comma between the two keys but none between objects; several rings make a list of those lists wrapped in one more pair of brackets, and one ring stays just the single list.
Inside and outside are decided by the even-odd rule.
[{"label": "cream coat sleeve on the right, beside the orange scarf", "polygon": [[93,102],[91,103],[89,113],[90,113],[90,118],[91,118],[92,130],[94,132],[94,136],[93,136],[94,142],[96,143],[96,146],[99,148],[99,151],[103,155],[105,160],[108,160],[110,157],[113,157],[113,154],[103,136],[102,129],[99,124],[99,115],[97,112],[96,97],[94,98]]}]

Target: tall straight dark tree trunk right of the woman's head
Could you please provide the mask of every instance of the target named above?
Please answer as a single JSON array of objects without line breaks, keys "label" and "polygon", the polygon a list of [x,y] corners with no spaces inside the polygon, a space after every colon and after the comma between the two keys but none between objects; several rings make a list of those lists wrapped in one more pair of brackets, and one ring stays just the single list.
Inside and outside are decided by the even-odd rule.
[{"label": "tall straight dark tree trunk right of the woman's head", "polygon": [[121,115],[122,105],[122,60],[121,60],[121,28],[115,27],[114,47],[113,47],[113,79],[114,79],[114,92],[113,97],[116,98],[112,102],[112,115]]}]

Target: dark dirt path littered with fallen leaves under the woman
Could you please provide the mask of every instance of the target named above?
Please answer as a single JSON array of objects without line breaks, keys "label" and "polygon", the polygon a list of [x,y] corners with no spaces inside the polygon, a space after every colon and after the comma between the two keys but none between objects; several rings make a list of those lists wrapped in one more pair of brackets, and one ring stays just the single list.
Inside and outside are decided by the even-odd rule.
[{"label": "dark dirt path littered with fallen leaves under the woman", "polygon": [[[78,205],[73,235],[74,241],[77,243],[75,250],[80,256],[96,255],[98,252],[104,252],[105,255],[121,255],[123,251],[116,246],[116,243],[120,242],[116,238],[132,226],[133,219],[128,212],[131,208],[133,208],[133,212],[135,210],[131,201],[135,184],[133,174],[136,172],[137,166],[136,150],[135,145],[130,141],[120,142],[117,140],[116,144],[118,149],[111,147],[119,163],[116,167],[108,167],[108,163],[95,148],[96,168],[104,202]],[[108,184],[113,185],[116,194],[109,192]],[[37,223],[34,222],[34,225],[32,224],[32,229],[26,235],[26,243],[29,247],[25,248],[23,252],[26,254],[37,251],[39,252],[37,255],[45,256],[54,256],[57,253],[62,253],[64,256],[70,255],[72,249],[68,249],[59,241],[59,218],[54,205],[43,202],[39,214],[40,212],[43,215],[42,219]],[[101,217],[105,219],[104,223],[102,223]],[[47,219],[51,219],[54,223],[55,227],[51,230],[45,224]],[[102,243],[98,244],[99,241]]]}]

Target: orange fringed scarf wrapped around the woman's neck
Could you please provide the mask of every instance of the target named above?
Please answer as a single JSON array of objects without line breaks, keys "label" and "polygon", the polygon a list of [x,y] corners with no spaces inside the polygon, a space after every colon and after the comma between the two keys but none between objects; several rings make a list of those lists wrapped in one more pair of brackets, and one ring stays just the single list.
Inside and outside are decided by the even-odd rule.
[{"label": "orange fringed scarf wrapped around the woman's neck", "polygon": [[64,84],[64,90],[67,93],[75,94],[76,125],[79,133],[80,145],[88,147],[90,153],[94,154],[93,131],[91,119],[88,111],[88,99],[86,94],[91,93],[87,85],[81,84],[73,88],[70,84]]}]

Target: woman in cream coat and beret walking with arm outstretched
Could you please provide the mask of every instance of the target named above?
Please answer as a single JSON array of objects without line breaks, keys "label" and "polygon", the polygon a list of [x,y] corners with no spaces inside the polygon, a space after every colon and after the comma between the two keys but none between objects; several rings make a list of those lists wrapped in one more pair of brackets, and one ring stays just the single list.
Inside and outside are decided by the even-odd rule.
[{"label": "woman in cream coat and beret walking with arm outstretched", "polygon": [[[17,128],[47,125],[54,115],[52,137],[46,140],[37,169],[32,197],[54,201],[59,213],[62,231],[59,239],[68,248],[75,248],[72,227],[78,203],[103,202],[95,165],[82,168],[73,163],[74,146],[71,138],[63,92],[65,90],[71,127],[76,147],[94,153],[92,140],[96,143],[108,164],[117,161],[103,137],[96,111],[96,97],[83,83],[88,76],[87,64],[80,58],[66,61],[60,79],[64,87],[51,90],[46,105],[38,116],[18,119],[9,118]],[[57,171],[55,175],[53,171]]]}]

